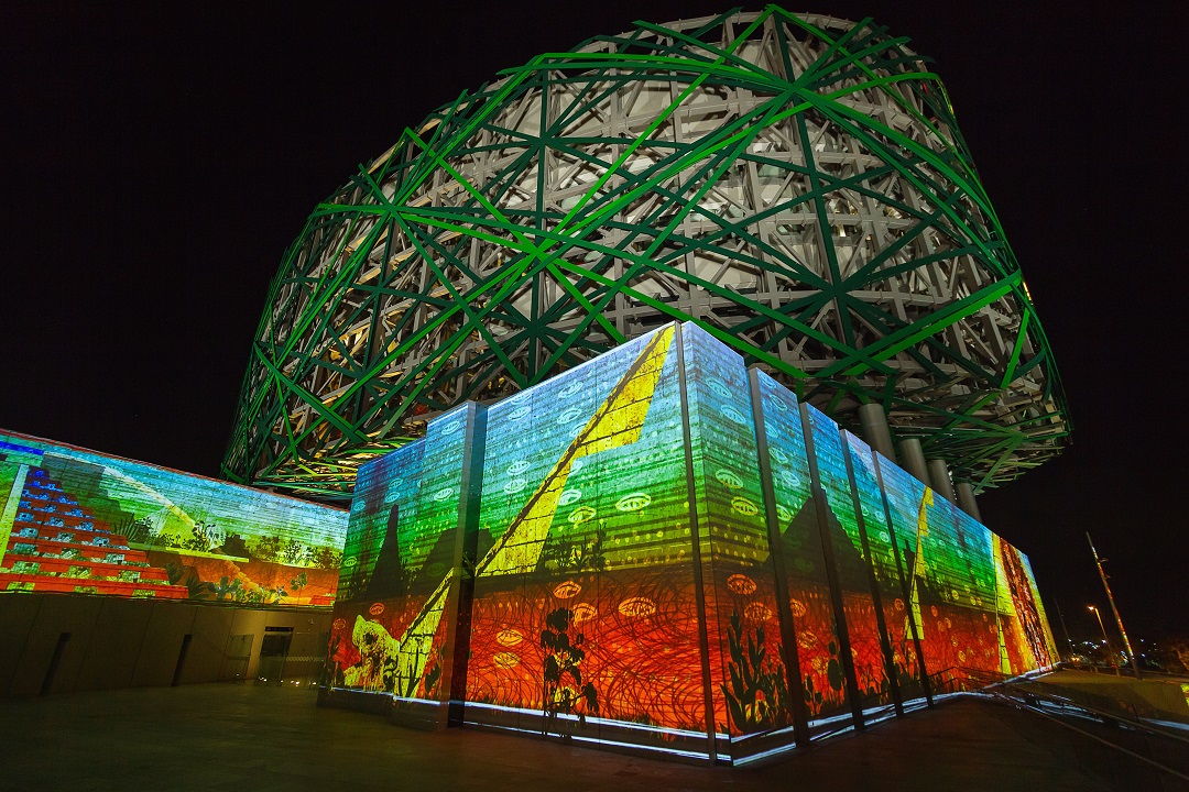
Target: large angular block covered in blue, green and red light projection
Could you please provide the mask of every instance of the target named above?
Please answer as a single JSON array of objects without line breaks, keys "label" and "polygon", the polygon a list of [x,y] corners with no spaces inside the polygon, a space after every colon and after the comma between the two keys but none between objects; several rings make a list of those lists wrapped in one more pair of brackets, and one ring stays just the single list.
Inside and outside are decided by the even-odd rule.
[{"label": "large angular block covered in blue, green and red light projection", "polygon": [[360,471],[323,702],[740,762],[1001,625],[1009,672],[1051,663],[1023,557],[887,471],[693,324],[454,410]]}]

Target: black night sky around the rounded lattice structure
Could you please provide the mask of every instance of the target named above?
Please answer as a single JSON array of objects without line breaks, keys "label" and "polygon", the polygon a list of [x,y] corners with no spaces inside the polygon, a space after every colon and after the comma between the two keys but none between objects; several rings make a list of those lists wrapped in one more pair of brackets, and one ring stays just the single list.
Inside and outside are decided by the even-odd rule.
[{"label": "black night sky around the rounded lattice structure", "polygon": [[[358,163],[539,52],[728,8],[407,5],[4,4],[0,426],[218,475],[269,280]],[[1031,556],[1062,646],[1055,603],[1075,640],[1106,607],[1087,530],[1132,638],[1189,632],[1189,4],[1125,8],[812,8],[935,61],[1020,260],[1075,432],[980,506]]]}]

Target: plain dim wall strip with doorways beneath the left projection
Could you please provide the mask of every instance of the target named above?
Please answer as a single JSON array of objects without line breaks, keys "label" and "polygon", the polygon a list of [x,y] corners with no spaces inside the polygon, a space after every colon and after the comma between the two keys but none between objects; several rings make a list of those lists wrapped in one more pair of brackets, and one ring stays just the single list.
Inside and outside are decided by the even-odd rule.
[{"label": "plain dim wall strip with doorways beneath the left projection", "polygon": [[[329,613],[0,595],[0,699],[37,696],[43,690],[170,685],[175,676],[177,684],[253,679],[266,628],[292,631],[283,672],[287,680],[317,677]],[[183,645],[185,657],[180,665]]]}]

